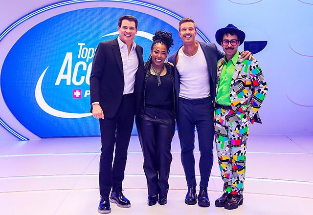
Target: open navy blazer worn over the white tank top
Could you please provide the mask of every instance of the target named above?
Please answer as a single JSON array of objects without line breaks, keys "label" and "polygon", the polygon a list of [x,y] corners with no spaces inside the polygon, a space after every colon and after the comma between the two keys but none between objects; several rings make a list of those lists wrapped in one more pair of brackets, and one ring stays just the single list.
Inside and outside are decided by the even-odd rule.
[{"label": "open navy blazer worn over the white tank top", "polygon": [[[212,100],[215,101],[215,91],[216,91],[216,75],[217,75],[217,61],[224,57],[224,53],[221,52],[215,45],[215,43],[202,43],[198,42],[205,56],[208,73],[210,76],[210,94],[212,96]],[[180,47],[181,48],[181,47]],[[179,49],[180,49],[179,48]],[[169,62],[172,62],[175,66],[174,68],[174,82],[175,82],[175,92],[176,92],[176,101],[178,101],[179,97],[179,84],[180,84],[180,76],[179,72],[176,68],[177,57],[179,49],[169,57]],[[192,72],[192,71],[190,71]],[[178,108],[178,102],[176,102],[176,108]]]}]

